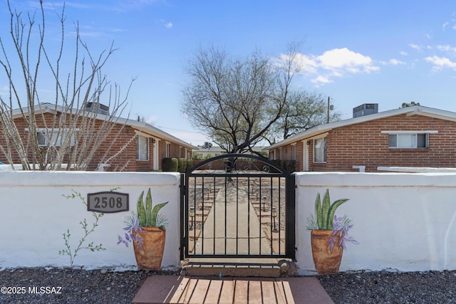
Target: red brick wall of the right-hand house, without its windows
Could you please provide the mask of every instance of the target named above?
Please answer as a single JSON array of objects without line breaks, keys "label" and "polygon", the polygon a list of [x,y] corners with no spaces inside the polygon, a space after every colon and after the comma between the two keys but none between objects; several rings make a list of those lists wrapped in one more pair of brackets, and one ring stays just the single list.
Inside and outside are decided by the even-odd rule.
[{"label": "red brick wall of the right-hand house, without its windows", "polygon": [[[429,147],[398,149],[388,147],[388,134],[382,131],[427,131]],[[309,145],[309,171],[354,172],[353,165],[366,166],[366,172],[377,172],[380,166],[456,167],[456,122],[422,115],[396,115],[355,125],[338,127],[328,132],[326,163],[314,163],[314,142]],[[288,151],[291,145],[282,148]],[[303,169],[302,142],[296,143],[296,170]],[[282,156],[289,157],[288,153]]]}]

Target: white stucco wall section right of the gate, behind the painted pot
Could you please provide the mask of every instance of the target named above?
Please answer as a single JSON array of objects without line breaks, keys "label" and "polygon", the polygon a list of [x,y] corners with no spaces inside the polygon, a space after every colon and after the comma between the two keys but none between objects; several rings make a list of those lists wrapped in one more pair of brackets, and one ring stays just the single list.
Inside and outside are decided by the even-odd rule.
[{"label": "white stucco wall section right of the gate, behind the painted pot", "polygon": [[296,174],[296,260],[301,274],[315,273],[307,218],[316,194],[329,189],[337,216],[353,220],[340,271],[456,269],[456,174]]}]

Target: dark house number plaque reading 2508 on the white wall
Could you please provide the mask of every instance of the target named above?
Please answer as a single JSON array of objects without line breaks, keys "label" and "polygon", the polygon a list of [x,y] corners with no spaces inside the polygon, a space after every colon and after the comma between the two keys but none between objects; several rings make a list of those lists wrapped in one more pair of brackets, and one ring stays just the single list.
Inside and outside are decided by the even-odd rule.
[{"label": "dark house number plaque reading 2508 on the white wall", "polygon": [[128,211],[128,194],[97,192],[87,194],[87,210],[103,213]]}]

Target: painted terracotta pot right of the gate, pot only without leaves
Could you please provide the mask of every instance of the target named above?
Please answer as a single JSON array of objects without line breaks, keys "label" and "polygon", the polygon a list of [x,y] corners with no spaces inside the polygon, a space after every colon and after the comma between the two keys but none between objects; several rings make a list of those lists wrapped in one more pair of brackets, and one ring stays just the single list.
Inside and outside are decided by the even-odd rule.
[{"label": "painted terracotta pot right of the gate, pot only without leaves", "polygon": [[316,271],[320,274],[336,273],[341,266],[343,247],[338,246],[339,237],[336,236],[336,244],[330,251],[328,239],[331,234],[332,230],[311,231],[312,257]]}]

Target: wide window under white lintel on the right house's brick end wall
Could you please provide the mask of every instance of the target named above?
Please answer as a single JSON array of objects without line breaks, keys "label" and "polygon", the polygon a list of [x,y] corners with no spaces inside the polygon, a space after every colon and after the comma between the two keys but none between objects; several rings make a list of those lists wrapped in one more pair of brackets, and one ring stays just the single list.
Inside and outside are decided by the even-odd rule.
[{"label": "wide window under white lintel on the right house's brick end wall", "polygon": [[388,133],[388,147],[390,148],[427,148],[429,147],[429,134],[437,131],[383,131]]}]

